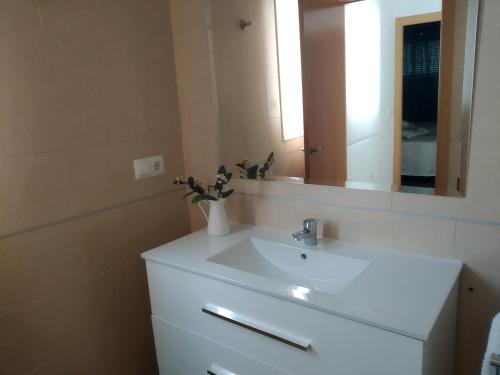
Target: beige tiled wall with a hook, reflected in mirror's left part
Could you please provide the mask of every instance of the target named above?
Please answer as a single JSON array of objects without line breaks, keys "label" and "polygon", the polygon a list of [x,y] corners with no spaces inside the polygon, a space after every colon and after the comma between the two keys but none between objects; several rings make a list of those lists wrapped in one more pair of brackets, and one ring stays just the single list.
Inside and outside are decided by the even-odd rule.
[{"label": "beige tiled wall with a hook, reflected in mirror's left part", "polygon": [[237,169],[273,151],[275,175],[304,177],[303,137],[282,137],[274,1],[211,0],[210,11],[221,160]]}]

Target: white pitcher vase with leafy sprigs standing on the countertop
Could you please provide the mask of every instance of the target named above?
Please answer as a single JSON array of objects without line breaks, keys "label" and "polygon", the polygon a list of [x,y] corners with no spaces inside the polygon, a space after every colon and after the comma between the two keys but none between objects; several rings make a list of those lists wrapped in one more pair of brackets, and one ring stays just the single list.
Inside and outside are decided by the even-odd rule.
[{"label": "white pitcher vase with leafy sprigs standing on the countertop", "polygon": [[[174,181],[176,185],[187,185],[191,190],[183,198],[187,198],[193,194],[195,196],[191,200],[192,203],[198,204],[201,212],[208,222],[208,234],[210,236],[224,236],[230,232],[227,222],[226,209],[224,204],[226,198],[233,194],[234,189],[229,189],[227,184],[231,181],[233,174],[227,172],[226,167],[221,165],[217,171],[215,183],[205,185],[194,177],[177,177]],[[210,208],[209,214],[205,212],[202,204],[207,204]]]}]

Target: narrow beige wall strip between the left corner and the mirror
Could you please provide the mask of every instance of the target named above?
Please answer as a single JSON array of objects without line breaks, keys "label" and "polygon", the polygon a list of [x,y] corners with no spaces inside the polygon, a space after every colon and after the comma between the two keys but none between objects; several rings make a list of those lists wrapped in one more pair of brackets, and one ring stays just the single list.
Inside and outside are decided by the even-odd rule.
[{"label": "narrow beige wall strip between the left corner and the mirror", "polygon": [[[207,0],[171,0],[170,9],[186,174],[208,181],[220,160],[210,7]],[[193,230],[206,226],[197,206],[189,211]]]}]

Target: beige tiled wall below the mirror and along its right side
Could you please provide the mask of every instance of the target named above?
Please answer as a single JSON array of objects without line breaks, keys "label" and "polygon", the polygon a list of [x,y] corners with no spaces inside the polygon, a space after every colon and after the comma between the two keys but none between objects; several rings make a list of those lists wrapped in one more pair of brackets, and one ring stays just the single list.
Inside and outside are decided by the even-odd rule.
[{"label": "beige tiled wall below the mirror and along its right side", "polygon": [[237,181],[233,220],[297,230],[320,218],[327,237],[464,262],[457,332],[458,375],[480,373],[492,317],[500,312],[500,2],[481,2],[467,197]]}]

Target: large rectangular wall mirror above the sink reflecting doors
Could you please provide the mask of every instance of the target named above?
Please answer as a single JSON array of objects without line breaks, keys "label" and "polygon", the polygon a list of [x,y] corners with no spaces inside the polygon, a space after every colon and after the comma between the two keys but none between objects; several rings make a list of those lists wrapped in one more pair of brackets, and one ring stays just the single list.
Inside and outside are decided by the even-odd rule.
[{"label": "large rectangular wall mirror above the sink reflecting doors", "polygon": [[226,165],[273,152],[268,179],[465,195],[478,0],[209,10]]}]

